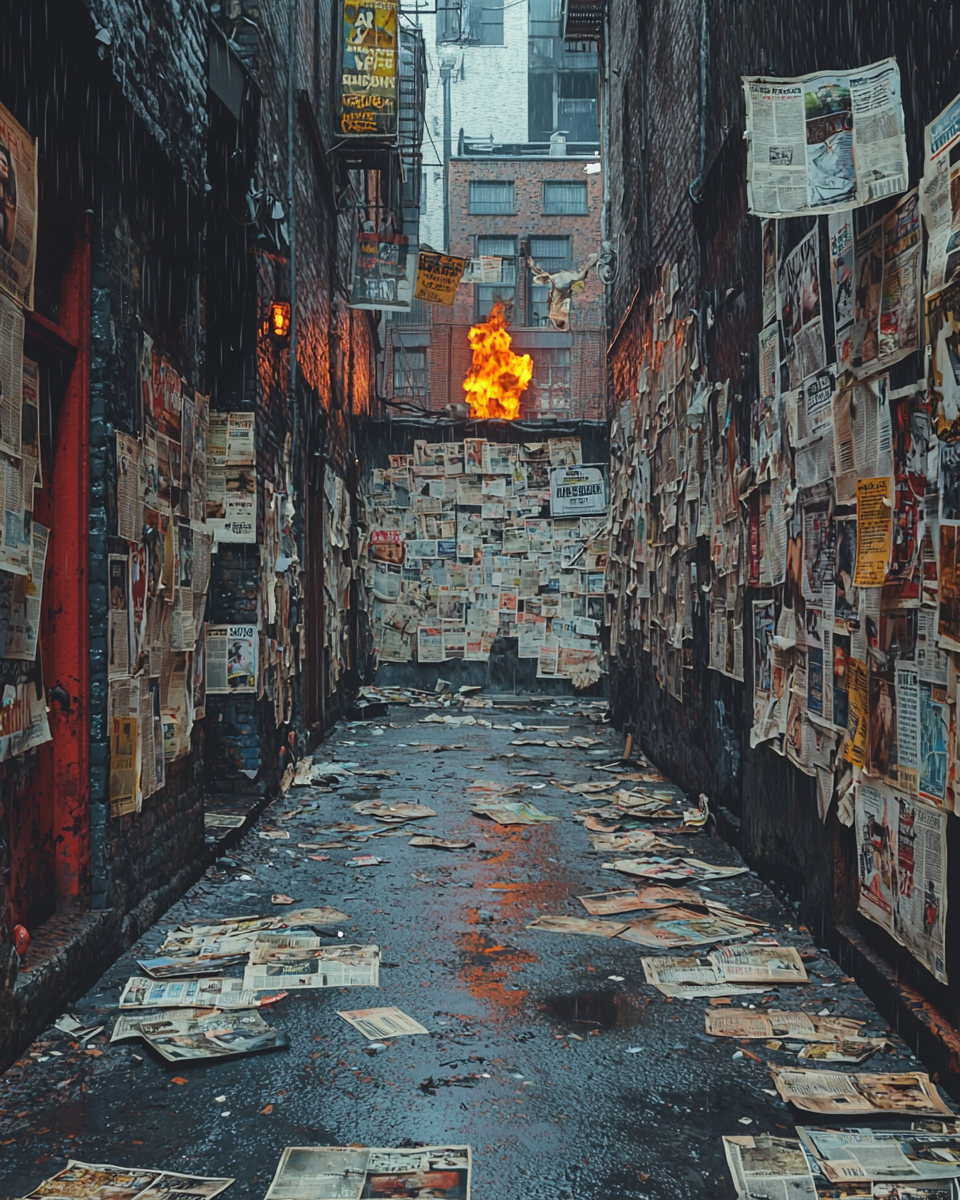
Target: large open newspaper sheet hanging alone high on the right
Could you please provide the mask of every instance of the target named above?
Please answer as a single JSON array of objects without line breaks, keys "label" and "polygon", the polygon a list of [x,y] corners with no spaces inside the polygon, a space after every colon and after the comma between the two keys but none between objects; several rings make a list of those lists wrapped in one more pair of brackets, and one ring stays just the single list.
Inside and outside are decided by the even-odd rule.
[{"label": "large open newspaper sheet hanging alone high on the right", "polygon": [[900,70],[746,77],[746,194],[755,216],[840,212],[906,191]]}]

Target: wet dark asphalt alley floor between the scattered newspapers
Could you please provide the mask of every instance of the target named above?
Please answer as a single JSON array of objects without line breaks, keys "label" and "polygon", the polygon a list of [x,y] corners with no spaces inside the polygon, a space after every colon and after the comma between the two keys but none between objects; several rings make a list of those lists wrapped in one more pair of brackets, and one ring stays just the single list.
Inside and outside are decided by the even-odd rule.
[{"label": "wet dark asphalt alley floor between the scattered newspapers", "polygon": [[[229,852],[235,868],[211,869],[71,1008],[84,1024],[106,1024],[86,1050],[48,1030],[7,1072],[0,1082],[0,1196],[25,1195],[68,1157],[235,1176],[226,1198],[240,1200],[265,1194],[288,1145],[469,1142],[474,1200],[733,1200],[721,1135],[792,1135],[794,1116],[773,1093],[766,1063],[796,1063],[796,1056],[708,1037],[706,1001],[670,1001],[644,984],[641,956],[656,952],[526,928],[544,913],[587,916],[577,895],[636,881],[601,870],[601,856],[572,820],[590,798],[550,784],[608,778],[596,764],[618,761],[623,743],[599,724],[602,709],[576,701],[506,703],[468,710],[490,728],[421,724],[428,710],[391,706],[379,722],[334,730],[314,764],[354,762],[398,774],[290,790]],[[517,732],[514,721],[569,728]],[[578,734],[601,740],[590,750],[511,744]],[[542,775],[511,774],[517,770]],[[474,797],[464,788],[480,779],[545,784],[511,798],[560,820],[503,828],[472,815]],[[436,809],[436,818],[409,832],[469,838],[475,848],[415,848],[404,836],[368,835],[342,838],[344,848],[298,848],[299,841],[335,840],[324,826],[372,824],[352,805],[377,797]],[[304,806],[311,811],[290,816]],[[258,836],[271,828],[289,830],[289,840]],[[683,845],[710,862],[738,862],[709,832],[684,836]],[[362,853],[385,862],[346,865]],[[134,959],[155,953],[166,930],[282,913],[272,893],[290,895],[298,907],[334,905],[349,913],[346,940],[382,949],[379,990],[288,995],[264,1010],[290,1040],[272,1054],[191,1068],[162,1063],[138,1042],[108,1044],[122,984],[140,973]],[[781,942],[804,953],[810,984],[764,994],[769,1007],[826,1009],[866,1020],[866,1034],[890,1033],[754,875],[710,883],[707,894],[768,920]],[[763,1000],[734,997],[740,1002]],[[371,1050],[336,1015],[338,1008],[380,1006],[403,1009],[430,1036]],[[830,1066],[918,1068],[910,1049],[893,1040],[896,1052],[864,1067]]]}]

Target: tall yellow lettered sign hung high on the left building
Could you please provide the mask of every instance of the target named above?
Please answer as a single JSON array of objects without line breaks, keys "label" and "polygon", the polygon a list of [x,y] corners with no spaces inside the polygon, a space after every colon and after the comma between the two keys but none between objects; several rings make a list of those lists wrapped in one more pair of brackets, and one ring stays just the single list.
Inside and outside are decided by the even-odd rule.
[{"label": "tall yellow lettered sign hung high on the left building", "polygon": [[340,132],[397,133],[397,2],[344,0],[340,55]]}]

